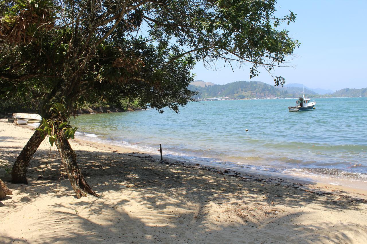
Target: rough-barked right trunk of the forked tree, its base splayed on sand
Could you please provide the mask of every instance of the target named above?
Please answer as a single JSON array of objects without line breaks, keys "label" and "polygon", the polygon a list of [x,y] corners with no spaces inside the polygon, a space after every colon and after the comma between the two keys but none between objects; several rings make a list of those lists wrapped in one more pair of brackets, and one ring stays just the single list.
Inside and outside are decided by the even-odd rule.
[{"label": "rough-barked right trunk of the forked tree, its base splayed on sand", "polygon": [[69,141],[64,137],[63,133],[57,136],[55,144],[59,150],[61,161],[65,167],[66,173],[68,174],[70,183],[76,193],[76,197],[85,197],[87,196],[87,193],[98,197],[84,179],[83,174],[81,174],[76,163],[76,154],[71,148]]}]

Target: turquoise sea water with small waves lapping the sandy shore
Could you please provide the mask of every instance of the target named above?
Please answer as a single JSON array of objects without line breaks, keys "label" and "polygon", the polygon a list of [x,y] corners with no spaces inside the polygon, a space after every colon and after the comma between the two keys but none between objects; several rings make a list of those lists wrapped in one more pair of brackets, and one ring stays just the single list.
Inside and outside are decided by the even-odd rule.
[{"label": "turquoise sea water with small waves lapping the sandy shore", "polygon": [[[190,103],[167,110],[80,115],[88,140],[231,169],[367,181],[367,98],[316,99],[289,112],[294,99]],[[246,132],[246,129],[248,131]]]}]

